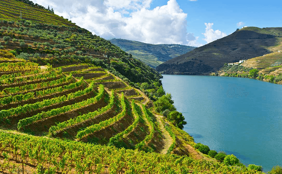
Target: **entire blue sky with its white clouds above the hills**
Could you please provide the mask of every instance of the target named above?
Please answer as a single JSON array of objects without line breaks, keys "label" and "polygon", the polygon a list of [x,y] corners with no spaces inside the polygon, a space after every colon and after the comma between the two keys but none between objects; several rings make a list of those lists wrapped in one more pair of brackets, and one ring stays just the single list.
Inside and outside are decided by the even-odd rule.
[{"label": "entire blue sky with its white clouds above the hills", "polygon": [[32,0],[105,39],[202,46],[237,28],[282,27],[281,0]]}]

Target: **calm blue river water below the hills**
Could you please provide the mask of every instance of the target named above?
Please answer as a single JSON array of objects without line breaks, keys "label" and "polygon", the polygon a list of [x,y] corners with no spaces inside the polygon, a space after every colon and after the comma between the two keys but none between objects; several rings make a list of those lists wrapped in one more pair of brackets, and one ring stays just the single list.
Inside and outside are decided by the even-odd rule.
[{"label": "calm blue river water below the hills", "polygon": [[282,166],[282,85],[218,76],[161,80],[187,121],[183,130],[196,143],[234,154],[245,165],[263,166],[264,172]]}]

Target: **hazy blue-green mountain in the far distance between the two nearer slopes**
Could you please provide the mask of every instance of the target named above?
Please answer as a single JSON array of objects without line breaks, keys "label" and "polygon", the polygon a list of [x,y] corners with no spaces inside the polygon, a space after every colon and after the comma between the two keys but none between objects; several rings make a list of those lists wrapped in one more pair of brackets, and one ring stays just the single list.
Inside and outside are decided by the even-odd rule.
[{"label": "hazy blue-green mountain in the far distance between the two nearer slopes", "polygon": [[146,44],[126,39],[112,39],[110,42],[153,68],[196,48],[179,44]]}]

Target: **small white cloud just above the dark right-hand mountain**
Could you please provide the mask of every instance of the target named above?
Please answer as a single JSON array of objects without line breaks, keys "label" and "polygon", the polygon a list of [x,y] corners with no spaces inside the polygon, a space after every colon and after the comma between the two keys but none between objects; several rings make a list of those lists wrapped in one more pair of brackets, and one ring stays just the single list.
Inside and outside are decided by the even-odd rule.
[{"label": "small white cloud just above the dark right-hand mountain", "polygon": [[205,31],[205,33],[202,33],[202,34],[205,36],[205,38],[203,40],[206,41],[207,44],[210,43],[210,42],[213,42],[217,39],[220,39],[220,38],[227,36],[226,33],[223,33],[219,30],[214,31],[212,29],[213,23],[205,23],[205,25],[206,25],[206,31]]}]

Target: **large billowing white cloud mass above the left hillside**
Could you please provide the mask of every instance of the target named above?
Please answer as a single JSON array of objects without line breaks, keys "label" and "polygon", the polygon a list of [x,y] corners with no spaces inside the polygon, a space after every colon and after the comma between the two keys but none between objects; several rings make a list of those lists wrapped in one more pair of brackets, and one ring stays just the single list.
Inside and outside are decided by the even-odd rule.
[{"label": "large billowing white cloud mass above the left hillside", "polygon": [[187,14],[176,0],[149,10],[152,0],[33,0],[55,14],[105,39],[123,38],[151,44],[199,46],[187,41]]}]

